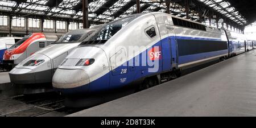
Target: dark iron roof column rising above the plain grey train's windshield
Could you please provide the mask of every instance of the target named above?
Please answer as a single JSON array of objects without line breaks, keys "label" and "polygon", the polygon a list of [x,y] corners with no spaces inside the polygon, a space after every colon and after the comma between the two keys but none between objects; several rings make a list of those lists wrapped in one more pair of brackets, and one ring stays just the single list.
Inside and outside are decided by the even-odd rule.
[{"label": "dark iron roof column rising above the plain grey train's windshield", "polygon": [[84,28],[89,28],[88,0],[82,0],[82,23]]}]

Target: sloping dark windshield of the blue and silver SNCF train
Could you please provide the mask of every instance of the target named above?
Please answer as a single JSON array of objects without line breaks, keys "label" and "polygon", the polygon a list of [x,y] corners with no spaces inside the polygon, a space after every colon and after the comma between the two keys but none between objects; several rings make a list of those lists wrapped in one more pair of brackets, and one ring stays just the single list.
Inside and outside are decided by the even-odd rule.
[{"label": "sloping dark windshield of the blue and silver SNCF train", "polygon": [[86,39],[80,45],[104,44],[110,38],[112,38],[112,36],[114,36],[119,30],[121,30],[123,27],[125,27],[127,24],[129,24],[141,15],[143,14],[131,15],[105,24],[95,34],[93,34],[93,36]]}]

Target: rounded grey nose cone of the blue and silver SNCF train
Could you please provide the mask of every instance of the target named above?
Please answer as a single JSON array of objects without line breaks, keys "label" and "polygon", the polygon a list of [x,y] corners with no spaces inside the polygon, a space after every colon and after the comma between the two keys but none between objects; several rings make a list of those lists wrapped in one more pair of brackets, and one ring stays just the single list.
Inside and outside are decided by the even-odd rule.
[{"label": "rounded grey nose cone of the blue and silver SNCF train", "polygon": [[52,78],[53,88],[56,89],[74,89],[88,84],[89,76],[82,69],[57,69]]}]

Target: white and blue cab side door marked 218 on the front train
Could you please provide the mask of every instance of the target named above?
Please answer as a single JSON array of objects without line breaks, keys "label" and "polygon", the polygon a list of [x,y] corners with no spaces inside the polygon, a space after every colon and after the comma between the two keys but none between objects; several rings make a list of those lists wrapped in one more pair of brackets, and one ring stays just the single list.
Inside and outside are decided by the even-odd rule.
[{"label": "white and blue cab side door marked 218 on the front train", "polygon": [[[125,62],[125,63],[123,63]],[[132,75],[128,75],[127,56],[125,49],[120,49],[110,57],[111,75],[110,88],[126,85]]]}]

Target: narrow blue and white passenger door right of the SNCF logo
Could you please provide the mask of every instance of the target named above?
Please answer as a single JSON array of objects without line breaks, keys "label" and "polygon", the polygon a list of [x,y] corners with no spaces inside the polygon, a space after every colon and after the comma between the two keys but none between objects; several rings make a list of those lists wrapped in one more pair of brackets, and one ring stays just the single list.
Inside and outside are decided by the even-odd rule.
[{"label": "narrow blue and white passenger door right of the SNCF logo", "polygon": [[176,42],[176,35],[175,35],[174,27],[167,25],[166,30],[167,30],[167,34],[168,34],[168,40],[170,43],[172,68],[177,69],[177,67],[178,67],[177,42]]}]

